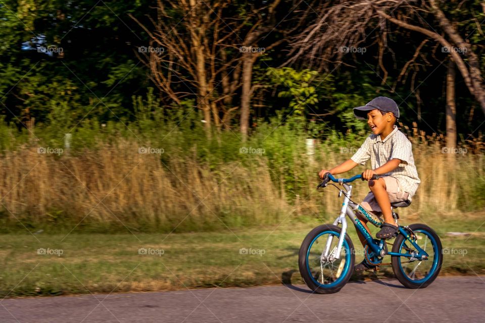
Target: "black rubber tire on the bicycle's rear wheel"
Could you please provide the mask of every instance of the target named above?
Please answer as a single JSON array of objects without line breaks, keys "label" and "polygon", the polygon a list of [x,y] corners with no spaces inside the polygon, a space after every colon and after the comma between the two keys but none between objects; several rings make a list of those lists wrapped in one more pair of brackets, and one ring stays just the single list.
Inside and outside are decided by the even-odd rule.
[{"label": "black rubber tire on the bicycle's rear wheel", "polygon": [[[423,231],[425,231],[426,235],[429,234],[429,236],[431,236],[434,239],[435,244],[433,243],[433,252],[434,252],[433,263],[434,263],[434,261],[436,261],[436,265],[431,266],[430,272],[428,274],[426,274],[426,276],[423,279],[413,281],[410,278],[408,278],[406,273],[403,272],[403,268],[402,268],[402,265],[401,265],[401,258],[407,259],[406,257],[392,256],[391,257],[391,264],[393,266],[393,271],[394,271],[394,274],[396,275],[396,278],[405,287],[412,288],[412,289],[425,288],[425,287],[429,286],[429,284],[431,284],[440,274],[441,266],[443,265],[443,246],[441,244],[440,237],[430,227],[428,227],[424,224],[412,224],[412,225],[409,226],[409,228],[414,232],[423,233]],[[398,237],[394,241],[393,252],[400,252],[399,249],[400,249],[401,244],[403,243],[404,240],[405,240],[405,237],[402,234],[398,235]],[[434,260],[436,258],[437,258],[437,260]],[[428,260],[423,260],[423,261],[428,261]],[[431,273],[431,271],[433,271],[433,273]],[[429,277],[427,277],[427,276],[429,276]],[[422,280],[424,280],[424,281],[422,281]]]}]

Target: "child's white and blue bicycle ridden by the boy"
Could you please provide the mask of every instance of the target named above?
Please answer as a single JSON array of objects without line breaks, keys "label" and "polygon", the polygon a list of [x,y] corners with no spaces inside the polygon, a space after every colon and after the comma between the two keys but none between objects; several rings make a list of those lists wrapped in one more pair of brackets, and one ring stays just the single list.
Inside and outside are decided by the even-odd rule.
[{"label": "child's white and blue bicycle ridden by the boy", "polygon": [[[378,175],[372,177],[372,179],[378,178]],[[391,203],[393,218],[399,229],[392,244],[392,251],[389,251],[387,244],[391,243],[384,239],[372,238],[356,216],[355,212],[359,212],[376,227],[383,224],[375,214],[351,200],[352,185],[347,183],[357,179],[364,180],[362,175],[355,175],[349,179],[336,179],[327,173],[317,186],[317,189],[328,185],[335,186],[339,191],[338,197],[344,195],[344,202],[340,215],[333,224],[314,228],[303,240],[298,259],[303,280],[310,289],[319,294],[338,292],[347,284],[355,264],[354,245],[347,234],[346,216],[348,216],[356,229],[365,237],[367,243],[364,247],[364,257],[369,264],[376,266],[376,271],[379,270],[380,265],[391,264],[397,279],[405,287],[414,289],[427,287],[438,276],[443,264],[440,237],[424,224],[399,226],[399,215],[394,209],[409,206],[410,202]],[[328,183],[330,180],[339,183],[345,190]],[[342,228],[338,226],[339,224]],[[382,263],[386,255],[391,255],[391,263]]]}]

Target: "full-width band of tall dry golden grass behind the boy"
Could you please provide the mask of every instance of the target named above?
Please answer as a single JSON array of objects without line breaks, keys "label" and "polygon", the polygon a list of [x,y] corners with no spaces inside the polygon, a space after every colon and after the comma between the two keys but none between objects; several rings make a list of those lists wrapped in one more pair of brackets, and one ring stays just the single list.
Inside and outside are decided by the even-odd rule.
[{"label": "full-width band of tall dry golden grass behind the boy", "polygon": [[[439,138],[418,133],[412,140],[421,185],[402,216],[483,207],[483,154],[470,148],[450,156],[442,153]],[[287,189],[288,179],[275,175],[264,155],[211,169],[192,156],[162,159],[138,148],[135,140],[119,139],[71,156],[39,154],[33,147],[6,152],[0,158],[0,220],[4,226],[107,225],[167,232],[323,220],[333,217],[341,202],[331,187],[315,190],[316,173],[352,155],[321,143],[313,162],[305,153],[293,156],[295,176],[306,183],[295,191]],[[354,187],[355,200],[368,192],[366,183]]]}]

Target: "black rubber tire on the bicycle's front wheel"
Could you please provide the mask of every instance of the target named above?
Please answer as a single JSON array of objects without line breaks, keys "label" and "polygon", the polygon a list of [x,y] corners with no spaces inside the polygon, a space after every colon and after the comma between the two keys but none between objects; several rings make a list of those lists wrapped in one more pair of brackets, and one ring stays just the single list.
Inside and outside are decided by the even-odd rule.
[{"label": "black rubber tire on the bicycle's front wheel", "polygon": [[[309,266],[307,266],[307,254],[309,253],[309,248],[311,244],[313,244],[314,239],[316,239],[317,237],[319,237],[320,235],[328,231],[336,233],[334,234],[334,236],[338,239],[338,237],[340,237],[340,233],[342,230],[340,227],[337,227],[331,224],[325,224],[325,225],[316,227],[315,229],[310,231],[310,233],[303,240],[302,246],[300,247],[300,252],[298,255],[298,265],[300,267],[300,274],[302,275],[303,280],[311,290],[313,290],[315,293],[318,293],[318,294],[331,294],[331,293],[336,293],[340,291],[345,286],[345,284],[347,284],[350,277],[352,276],[352,273],[354,272],[354,264],[355,264],[354,245],[352,244],[352,240],[350,240],[349,235],[346,235],[344,246],[342,247],[342,249],[344,250],[345,248],[345,251],[346,251],[346,264],[344,269],[344,271],[346,272],[342,272],[341,276],[343,277],[340,278],[340,276],[338,276],[337,281],[339,282],[337,284],[331,284],[331,286],[329,287],[326,287],[322,284],[315,282],[313,276],[309,271]],[[347,255],[347,253],[349,253],[349,255]],[[350,261],[347,261],[347,259],[349,259]],[[347,262],[350,262],[350,263],[347,263]]]}]

